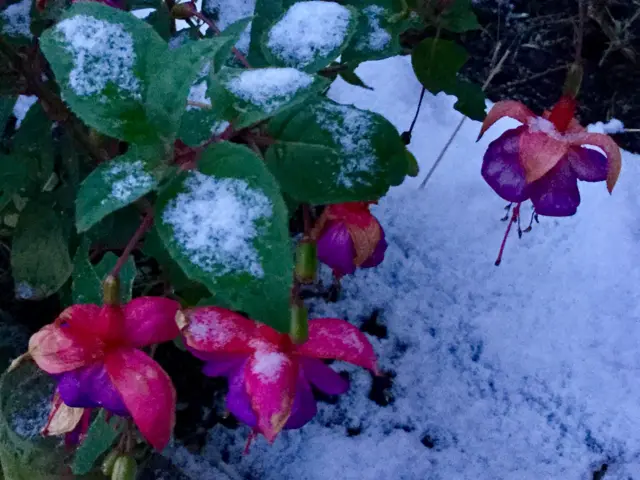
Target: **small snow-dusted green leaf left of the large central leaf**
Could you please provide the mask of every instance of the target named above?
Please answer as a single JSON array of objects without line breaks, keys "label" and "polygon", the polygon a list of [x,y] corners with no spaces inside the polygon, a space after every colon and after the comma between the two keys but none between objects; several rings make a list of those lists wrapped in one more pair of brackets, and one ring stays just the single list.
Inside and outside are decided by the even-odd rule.
[{"label": "small snow-dusted green leaf left of the large central leaf", "polygon": [[84,232],[157,185],[166,166],[158,146],[131,145],[124,155],[102,163],[82,182],[76,199],[76,227]]}]

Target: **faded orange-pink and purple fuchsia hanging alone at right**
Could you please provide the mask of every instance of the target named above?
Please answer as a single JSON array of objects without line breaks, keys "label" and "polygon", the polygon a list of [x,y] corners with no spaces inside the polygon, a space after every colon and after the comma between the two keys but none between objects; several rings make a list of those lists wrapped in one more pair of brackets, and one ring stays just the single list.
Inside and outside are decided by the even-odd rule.
[{"label": "faded orange-pink and purple fuchsia hanging alone at right", "polygon": [[565,217],[580,204],[578,180],[606,181],[611,193],[620,175],[620,149],[608,135],[582,128],[575,109],[568,96],[541,117],[512,100],[493,106],[480,137],[503,117],[523,124],[491,142],[484,155],[482,176],[498,195],[518,204],[530,199],[537,214]]}]

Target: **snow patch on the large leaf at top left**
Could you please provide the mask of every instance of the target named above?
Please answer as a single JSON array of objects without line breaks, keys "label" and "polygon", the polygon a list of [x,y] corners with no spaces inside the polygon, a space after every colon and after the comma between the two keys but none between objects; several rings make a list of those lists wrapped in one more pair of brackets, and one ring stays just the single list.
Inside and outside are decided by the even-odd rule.
[{"label": "snow patch on the large leaf at top left", "polygon": [[64,37],[65,49],[72,56],[69,86],[76,95],[98,95],[108,84],[114,84],[122,92],[140,97],[140,82],[133,71],[133,38],[122,25],[75,15],[55,29]]}]

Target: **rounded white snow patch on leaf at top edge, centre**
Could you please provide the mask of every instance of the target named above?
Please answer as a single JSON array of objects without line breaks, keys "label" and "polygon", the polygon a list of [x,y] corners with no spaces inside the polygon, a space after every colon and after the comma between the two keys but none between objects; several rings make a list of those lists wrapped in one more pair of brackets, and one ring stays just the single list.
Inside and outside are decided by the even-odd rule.
[{"label": "rounded white snow patch on leaf at top edge, centre", "polygon": [[267,47],[285,65],[302,68],[340,47],[351,12],[335,2],[295,3],[269,30]]}]

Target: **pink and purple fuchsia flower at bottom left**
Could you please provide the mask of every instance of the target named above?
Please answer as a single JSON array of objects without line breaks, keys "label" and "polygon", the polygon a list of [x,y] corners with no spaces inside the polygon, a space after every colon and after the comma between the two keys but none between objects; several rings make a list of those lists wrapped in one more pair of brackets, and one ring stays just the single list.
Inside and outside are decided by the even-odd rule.
[{"label": "pink and purple fuchsia flower at bottom left", "polygon": [[131,416],[147,441],[162,450],[175,423],[176,393],[167,373],[140,349],[178,336],[179,308],[158,297],[124,306],[73,305],[36,332],[29,354],[57,380],[59,401],[54,398],[50,423],[64,424],[49,424],[43,433],[81,435],[78,409],[104,408]]}]

